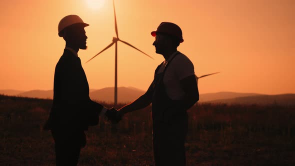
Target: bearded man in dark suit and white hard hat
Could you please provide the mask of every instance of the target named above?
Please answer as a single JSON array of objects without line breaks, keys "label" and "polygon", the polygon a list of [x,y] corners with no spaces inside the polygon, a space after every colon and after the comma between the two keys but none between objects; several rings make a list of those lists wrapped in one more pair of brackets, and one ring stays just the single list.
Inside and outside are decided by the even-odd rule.
[{"label": "bearded man in dark suit and white hard hat", "polygon": [[99,115],[116,122],[115,109],[89,98],[87,78],[77,54],[87,47],[84,27],[88,25],[77,15],[67,15],[58,24],[58,35],[66,44],[55,66],[53,103],[44,125],[55,142],[56,165],[77,164],[80,148],[86,144],[84,130],[96,125]]}]

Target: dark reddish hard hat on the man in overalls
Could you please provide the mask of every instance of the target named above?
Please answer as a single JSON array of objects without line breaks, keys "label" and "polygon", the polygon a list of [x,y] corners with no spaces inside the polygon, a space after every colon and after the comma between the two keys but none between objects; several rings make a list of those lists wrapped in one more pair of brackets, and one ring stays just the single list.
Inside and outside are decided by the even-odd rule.
[{"label": "dark reddish hard hat on the man in overalls", "polygon": [[161,22],[155,31],[150,32],[152,36],[155,36],[156,32],[166,33],[172,36],[176,36],[183,42],[182,31],[178,25],[172,22]]}]

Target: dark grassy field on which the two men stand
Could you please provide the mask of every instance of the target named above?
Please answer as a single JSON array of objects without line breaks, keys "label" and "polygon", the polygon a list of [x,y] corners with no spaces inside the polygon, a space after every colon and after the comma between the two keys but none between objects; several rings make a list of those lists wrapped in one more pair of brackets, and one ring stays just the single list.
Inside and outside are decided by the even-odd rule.
[{"label": "dark grassy field on which the two men stand", "polygon": [[[0,95],[0,165],[54,165],[51,100]],[[110,104],[105,104],[111,107]],[[119,105],[120,106],[120,105]],[[295,106],[196,104],[187,165],[295,165]],[[78,165],[152,165],[150,107],[86,132]]]}]

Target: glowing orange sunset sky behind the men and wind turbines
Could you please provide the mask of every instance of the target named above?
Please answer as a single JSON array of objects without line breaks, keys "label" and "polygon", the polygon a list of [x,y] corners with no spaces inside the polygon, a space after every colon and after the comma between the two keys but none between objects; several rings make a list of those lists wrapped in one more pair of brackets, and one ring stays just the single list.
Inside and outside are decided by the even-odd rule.
[{"label": "glowing orange sunset sky behind the men and wind turbines", "polygon": [[[52,89],[64,48],[59,20],[77,14],[86,27],[87,50],[78,52],[90,88],[114,84],[114,46],[84,63],[115,36],[112,1],[101,8],[86,0],[0,1],[0,89]],[[115,0],[119,38],[118,86],[146,90],[163,57],[150,31],[161,21],[178,24],[199,79],[199,92],[295,93],[294,0]]]}]

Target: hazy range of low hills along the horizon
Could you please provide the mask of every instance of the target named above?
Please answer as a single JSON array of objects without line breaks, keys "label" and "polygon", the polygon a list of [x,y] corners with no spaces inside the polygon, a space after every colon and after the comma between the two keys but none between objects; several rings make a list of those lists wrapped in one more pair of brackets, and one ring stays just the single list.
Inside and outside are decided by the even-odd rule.
[{"label": "hazy range of low hills along the horizon", "polygon": [[[93,100],[113,102],[113,87],[101,89],[90,89],[89,96]],[[135,100],[145,91],[135,87],[118,87],[118,102],[127,103]],[[21,91],[14,89],[0,90],[0,94],[34,97],[53,98],[53,90],[29,90]],[[295,94],[266,95],[260,93],[239,93],[239,92],[215,92],[200,94],[198,102],[228,103],[228,104],[283,104],[295,105]]]}]

